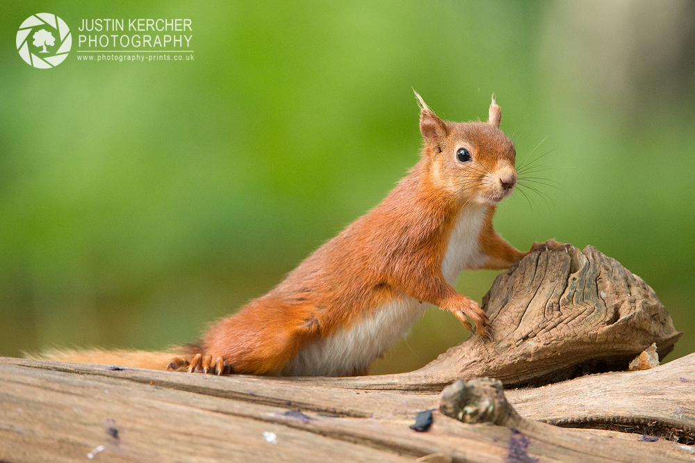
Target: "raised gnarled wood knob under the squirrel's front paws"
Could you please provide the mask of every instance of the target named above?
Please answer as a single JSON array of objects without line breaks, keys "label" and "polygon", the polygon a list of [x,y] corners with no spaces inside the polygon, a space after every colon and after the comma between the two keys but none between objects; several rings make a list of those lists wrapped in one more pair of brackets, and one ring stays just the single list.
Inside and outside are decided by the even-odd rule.
[{"label": "raised gnarled wood knob under the squirrel's front paws", "polygon": [[652,343],[663,358],[682,335],[643,279],[591,246],[530,254],[497,277],[483,307],[492,342],[471,336],[421,375],[488,376],[505,387],[557,382],[626,369]]}]

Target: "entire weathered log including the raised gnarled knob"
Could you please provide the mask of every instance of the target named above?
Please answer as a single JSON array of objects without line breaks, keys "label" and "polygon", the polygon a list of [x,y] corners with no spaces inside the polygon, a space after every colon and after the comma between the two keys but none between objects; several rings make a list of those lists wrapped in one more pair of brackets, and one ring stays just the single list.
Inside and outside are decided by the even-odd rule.
[{"label": "entire weathered log including the raised gnarled knob", "polygon": [[[0,463],[695,460],[683,445],[695,441],[695,355],[557,382],[624,370],[651,343],[663,357],[680,336],[614,259],[592,247],[534,252],[500,274],[484,309],[491,340],[472,336],[400,375],[215,377],[0,357]],[[557,383],[507,391],[517,430],[439,412],[429,431],[409,428],[445,384],[483,376]]]}]

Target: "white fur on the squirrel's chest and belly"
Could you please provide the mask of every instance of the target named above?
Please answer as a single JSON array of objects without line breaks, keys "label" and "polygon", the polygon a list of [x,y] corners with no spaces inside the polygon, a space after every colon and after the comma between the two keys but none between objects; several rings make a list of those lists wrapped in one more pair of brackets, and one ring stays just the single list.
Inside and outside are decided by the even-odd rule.
[{"label": "white fur on the squirrel's chest and belly", "polygon": [[[449,239],[441,270],[454,284],[461,270],[480,266],[486,256],[480,252],[478,235],[485,208],[461,211]],[[282,371],[285,376],[341,376],[367,368],[423,316],[427,304],[402,294],[386,302],[347,330],[315,341],[302,349]]]}]

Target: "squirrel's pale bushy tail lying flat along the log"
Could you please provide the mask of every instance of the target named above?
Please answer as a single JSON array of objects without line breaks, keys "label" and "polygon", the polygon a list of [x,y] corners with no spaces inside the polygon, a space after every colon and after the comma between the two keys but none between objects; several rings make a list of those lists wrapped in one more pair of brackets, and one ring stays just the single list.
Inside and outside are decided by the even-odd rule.
[{"label": "squirrel's pale bushy tail lying flat along the log", "polygon": [[149,350],[105,350],[100,348],[90,349],[49,349],[38,355],[25,354],[29,359],[50,360],[52,362],[76,362],[80,364],[107,364],[117,366],[132,366],[135,368],[149,368],[151,370],[165,370],[174,357],[186,357],[190,360],[191,346],[180,346],[170,349],[168,352]]}]

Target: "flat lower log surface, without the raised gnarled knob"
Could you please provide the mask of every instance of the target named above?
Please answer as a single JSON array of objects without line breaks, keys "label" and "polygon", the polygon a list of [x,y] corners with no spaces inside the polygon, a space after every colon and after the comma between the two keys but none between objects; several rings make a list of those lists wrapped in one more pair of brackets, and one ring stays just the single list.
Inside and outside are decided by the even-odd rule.
[{"label": "flat lower log surface, without the raised gnarled knob", "polygon": [[[509,428],[466,425],[437,412],[428,432],[411,430],[416,412],[438,405],[434,393],[346,388],[340,378],[297,381],[107,368],[1,358],[0,460],[85,461],[101,445],[104,451],[95,461],[388,462],[443,452],[454,461],[501,462],[514,437]],[[648,371],[590,375],[507,394],[527,419],[564,417],[564,425],[641,420],[685,433],[695,429],[693,380],[695,355],[689,355]],[[291,412],[297,409],[303,416]],[[539,461],[695,458],[691,446],[639,441],[637,434],[620,439],[535,421],[520,431],[530,440],[528,455]],[[266,441],[264,432],[274,433],[277,444]]]}]

